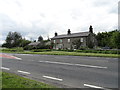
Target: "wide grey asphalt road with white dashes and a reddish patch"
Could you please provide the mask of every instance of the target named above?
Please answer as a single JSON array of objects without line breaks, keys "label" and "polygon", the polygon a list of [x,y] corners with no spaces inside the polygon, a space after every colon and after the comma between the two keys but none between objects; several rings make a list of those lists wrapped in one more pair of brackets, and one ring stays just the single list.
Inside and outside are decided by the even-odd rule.
[{"label": "wide grey asphalt road with white dashes and a reddish patch", "polygon": [[2,70],[68,88],[118,88],[118,59],[1,54]]}]

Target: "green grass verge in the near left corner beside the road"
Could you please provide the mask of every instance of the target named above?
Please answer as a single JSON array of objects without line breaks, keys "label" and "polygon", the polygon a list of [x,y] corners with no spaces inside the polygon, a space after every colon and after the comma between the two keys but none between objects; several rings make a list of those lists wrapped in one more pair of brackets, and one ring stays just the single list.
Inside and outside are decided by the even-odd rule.
[{"label": "green grass verge in the near left corner beside the road", "polygon": [[55,88],[53,86],[30,80],[18,75],[2,72],[2,88]]}]

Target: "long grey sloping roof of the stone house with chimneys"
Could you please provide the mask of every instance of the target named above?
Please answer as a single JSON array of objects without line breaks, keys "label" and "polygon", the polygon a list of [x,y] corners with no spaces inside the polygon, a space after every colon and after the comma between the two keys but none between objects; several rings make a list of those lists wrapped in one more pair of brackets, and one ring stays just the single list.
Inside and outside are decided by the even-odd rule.
[{"label": "long grey sloping roof of the stone house with chimneys", "polygon": [[84,36],[88,36],[89,34],[90,34],[90,32],[72,33],[72,34],[69,34],[69,35],[68,34],[63,34],[63,35],[54,36],[51,39],[84,37]]}]

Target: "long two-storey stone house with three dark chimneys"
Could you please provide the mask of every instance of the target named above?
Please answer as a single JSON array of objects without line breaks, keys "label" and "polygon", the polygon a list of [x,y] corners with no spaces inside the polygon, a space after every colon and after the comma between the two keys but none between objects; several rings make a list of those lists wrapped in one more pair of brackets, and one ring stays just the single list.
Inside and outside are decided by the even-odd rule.
[{"label": "long two-storey stone house with three dark chimneys", "polygon": [[68,29],[67,34],[63,35],[58,35],[55,32],[55,36],[51,38],[51,43],[54,43],[53,49],[76,49],[76,45],[73,44],[76,40],[80,43],[80,47],[96,46],[92,26],[89,27],[88,32],[71,33],[70,29]]}]

